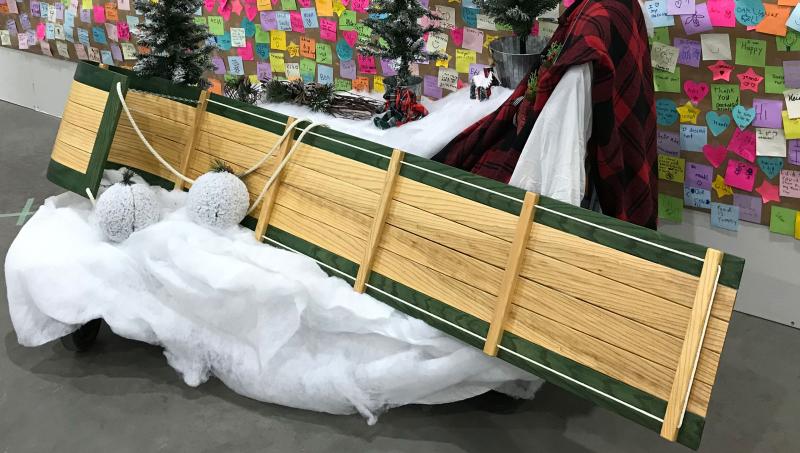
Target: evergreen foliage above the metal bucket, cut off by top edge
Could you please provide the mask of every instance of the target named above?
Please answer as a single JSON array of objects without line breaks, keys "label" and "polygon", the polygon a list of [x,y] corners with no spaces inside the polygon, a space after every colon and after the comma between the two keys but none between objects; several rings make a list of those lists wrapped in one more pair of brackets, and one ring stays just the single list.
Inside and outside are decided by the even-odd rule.
[{"label": "evergreen foliage above the metal bucket, cut off by top edge", "polygon": [[533,22],[545,11],[558,6],[560,0],[475,0],[475,6],[494,19],[495,23],[511,27],[519,37],[520,53],[528,53],[526,41]]}]

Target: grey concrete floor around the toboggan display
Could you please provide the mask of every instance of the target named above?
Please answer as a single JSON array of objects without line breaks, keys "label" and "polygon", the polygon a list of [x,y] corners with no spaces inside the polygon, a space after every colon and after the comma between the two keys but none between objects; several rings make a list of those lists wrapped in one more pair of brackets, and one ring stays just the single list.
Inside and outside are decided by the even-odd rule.
[{"label": "grey concrete floor around the toboggan display", "polygon": [[[45,179],[58,119],[0,102],[0,214],[61,192]],[[0,217],[0,253],[19,231]],[[0,278],[5,300],[5,280]],[[160,348],[101,331],[76,355],[17,344],[0,303],[0,452],[680,452],[682,446],[552,385],[389,411],[375,426],[186,386]],[[700,451],[800,449],[800,332],[735,314]]]}]

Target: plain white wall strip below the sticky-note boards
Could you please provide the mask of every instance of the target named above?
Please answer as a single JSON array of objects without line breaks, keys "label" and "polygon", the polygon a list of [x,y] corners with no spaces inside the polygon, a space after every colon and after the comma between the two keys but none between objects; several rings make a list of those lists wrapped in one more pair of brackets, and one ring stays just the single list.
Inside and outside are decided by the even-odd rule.
[{"label": "plain white wall strip below the sticky-note boards", "polygon": [[[61,116],[75,63],[0,48],[0,68],[0,100]],[[800,241],[746,222],[736,233],[711,229],[708,214],[696,211],[661,231],[745,258],[736,309],[800,328]]]}]

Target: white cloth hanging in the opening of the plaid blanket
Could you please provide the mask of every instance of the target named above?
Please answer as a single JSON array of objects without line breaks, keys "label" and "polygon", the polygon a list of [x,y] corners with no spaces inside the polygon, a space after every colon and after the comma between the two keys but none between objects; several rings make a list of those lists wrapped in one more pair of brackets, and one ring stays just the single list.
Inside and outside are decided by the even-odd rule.
[{"label": "white cloth hanging in the opening of the plaid blanket", "polygon": [[567,70],[536,119],[509,184],[580,205],[592,133],[592,67]]}]

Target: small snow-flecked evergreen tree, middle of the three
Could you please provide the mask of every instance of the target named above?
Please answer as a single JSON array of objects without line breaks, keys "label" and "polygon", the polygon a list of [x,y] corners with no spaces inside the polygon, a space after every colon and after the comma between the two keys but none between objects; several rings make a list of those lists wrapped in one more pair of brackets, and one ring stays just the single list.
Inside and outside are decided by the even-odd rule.
[{"label": "small snow-flecked evergreen tree, middle of the three", "polygon": [[[394,60],[397,64],[396,86],[411,80],[411,63],[447,59],[441,52],[425,50],[425,33],[443,33],[436,22],[440,18],[420,5],[418,0],[372,0],[364,25],[372,29],[369,42],[358,45],[366,55]],[[430,25],[423,27],[419,19],[426,17]]]}]

